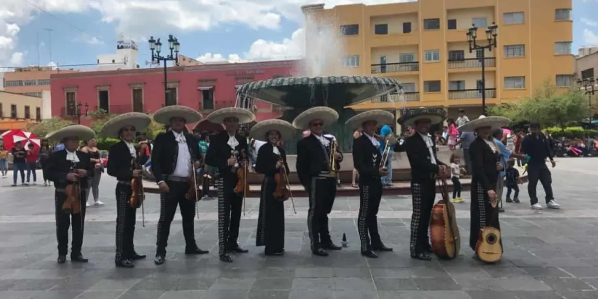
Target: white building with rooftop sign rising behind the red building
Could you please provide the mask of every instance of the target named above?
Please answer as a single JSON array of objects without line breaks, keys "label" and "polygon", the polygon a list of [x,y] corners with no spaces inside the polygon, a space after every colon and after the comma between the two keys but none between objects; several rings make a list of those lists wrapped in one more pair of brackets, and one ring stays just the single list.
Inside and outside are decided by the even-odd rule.
[{"label": "white building with rooftop sign rising behind the red building", "polygon": [[116,39],[116,54],[100,54],[97,56],[97,70],[114,71],[117,69],[136,69],[138,48],[135,41],[124,38],[120,33]]}]

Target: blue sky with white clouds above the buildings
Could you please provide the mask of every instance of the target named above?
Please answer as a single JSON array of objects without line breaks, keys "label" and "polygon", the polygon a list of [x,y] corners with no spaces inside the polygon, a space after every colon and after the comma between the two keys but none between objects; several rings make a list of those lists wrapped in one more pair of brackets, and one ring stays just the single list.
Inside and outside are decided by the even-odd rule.
[{"label": "blue sky with white clouds above the buildings", "polygon": [[[93,64],[115,53],[118,33],[151,60],[149,36],[181,43],[202,62],[298,59],[304,53],[301,5],[408,0],[0,0],[0,69]],[[541,0],[536,0],[541,1]],[[598,45],[598,0],[573,0],[573,53]],[[500,30],[500,29],[499,29]]]}]

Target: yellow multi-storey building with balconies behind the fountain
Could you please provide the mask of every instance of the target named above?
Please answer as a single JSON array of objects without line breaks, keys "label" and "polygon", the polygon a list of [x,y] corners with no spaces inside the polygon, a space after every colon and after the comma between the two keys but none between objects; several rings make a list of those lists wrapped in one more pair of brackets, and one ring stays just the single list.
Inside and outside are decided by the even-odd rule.
[{"label": "yellow multi-storey building with balconies behind the fountain", "polygon": [[[541,3],[540,3],[541,2]],[[396,94],[355,109],[444,107],[481,113],[481,53],[469,52],[466,33],[475,24],[487,45],[487,26],[498,25],[497,47],[485,50],[486,104],[531,96],[544,81],[572,86],[572,0],[419,0],[382,5],[306,5],[306,55],[310,36],[334,26],[341,57],[322,75],[374,75],[402,83]],[[313,40],[313,39],[312,39]],[[311,53],[317,55],[318,53]]]}]

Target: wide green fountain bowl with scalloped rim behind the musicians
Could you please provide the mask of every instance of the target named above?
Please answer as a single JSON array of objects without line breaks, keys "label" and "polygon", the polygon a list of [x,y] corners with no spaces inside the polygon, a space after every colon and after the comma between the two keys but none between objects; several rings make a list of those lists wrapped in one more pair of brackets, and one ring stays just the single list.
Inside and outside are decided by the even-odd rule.
[{"label": "wide green fountain bowl with scalloped rim behind the musicians", "polygon": [[237,94],[292,108],[340,108],[401,89],[392,78],[371,76],[290,77],[255,81]]}]

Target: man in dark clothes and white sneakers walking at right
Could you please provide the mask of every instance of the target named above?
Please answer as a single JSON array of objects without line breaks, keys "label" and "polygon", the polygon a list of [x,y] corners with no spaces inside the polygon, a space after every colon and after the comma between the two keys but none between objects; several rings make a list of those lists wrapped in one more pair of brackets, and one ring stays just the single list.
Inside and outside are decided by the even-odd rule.
[{"label": "man in dark clothes and white sneakers walking at right", "polygon": [[543,209],[538,203],[538,196],[536,196],[536,186],[540,181],[546,194],[547,208],[560,209],[560,205],[554,200],[552,175],[550,169],[546,166],[546,158],[550,160],[553,168],[556,166],[548,139],[540,131],[538,123],[530,123],[529,131],[530,135],[527,135],[521,142],[521,152],[529,157],[527,162],[527,193],[530,197],[530,206],[536,210]]}]

